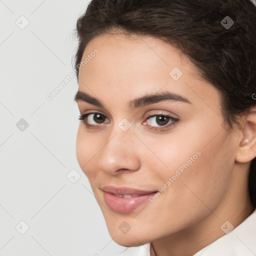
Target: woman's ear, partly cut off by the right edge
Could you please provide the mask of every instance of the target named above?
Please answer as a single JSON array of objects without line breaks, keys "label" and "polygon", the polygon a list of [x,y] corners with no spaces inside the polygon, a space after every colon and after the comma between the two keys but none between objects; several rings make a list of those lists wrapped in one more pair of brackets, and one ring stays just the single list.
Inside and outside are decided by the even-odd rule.
[{"label": "woman's ear, partly cut off by the right edge", "polygon": [[249,162],[256,156],[256,106],[250,108],[244,117],[243,138],[235,155],[238,162]]}]

